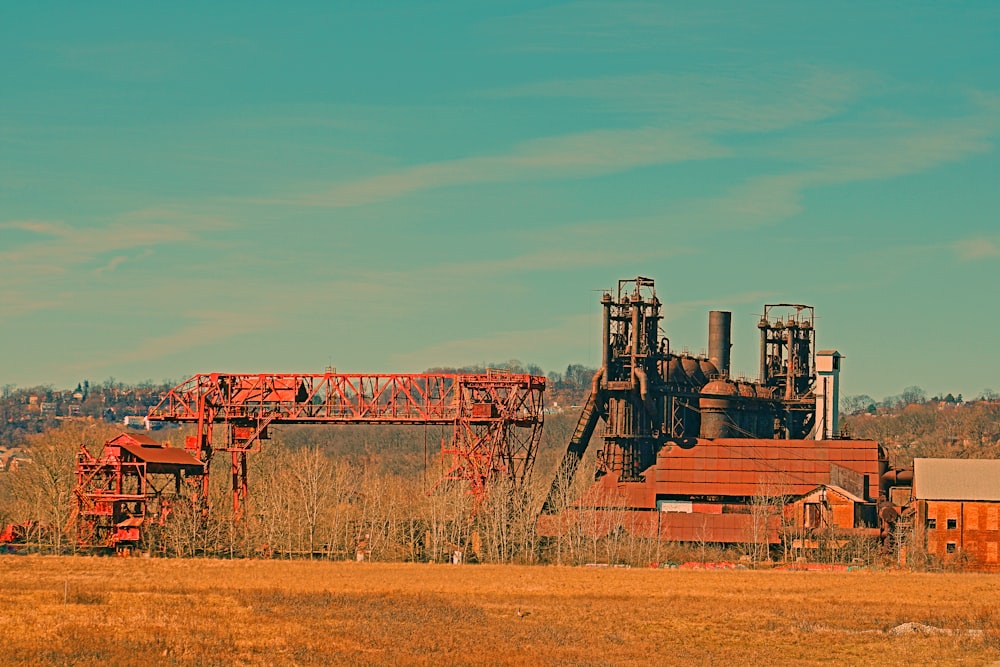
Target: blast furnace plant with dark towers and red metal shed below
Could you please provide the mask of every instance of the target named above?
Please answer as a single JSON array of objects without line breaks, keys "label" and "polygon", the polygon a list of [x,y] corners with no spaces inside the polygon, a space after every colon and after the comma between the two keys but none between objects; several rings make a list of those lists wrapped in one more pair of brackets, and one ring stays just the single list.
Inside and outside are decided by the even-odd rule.
[{"label": "blast furnace plant with dark towers and red metal shed below", "polygon": [[[855,514],[846,528],[855,533],[888,530],[878,512],[888,488],[878,443],[844,439],[828,433],[829,427],[817,430],[818,421],[836,423],[829,414],[835,406],[823,396],[836,396],[837,380],[836,373],[827,373],[818,391],[811,306],[764,306],[757,325],[759,376],[747,380],[731,373],[730,313],[710,313],[708,355],[694,356],[674,352],[663,335],[652,279],[619,281],[601,305],[602,365],[557,468],[540,527],[545,515],[563,512],[567,504],[599,507],[617,498],[638,532],[738,542],[751,530],[752,508],[761,496],[784,504],[819,493],[849,499]],[[839,353],[822,354],[839,371]],[[598,427],[594,486],[567,503],[566,489]],[[774,543],[781,519],[781,512],[772,513],[763,529],[753,530]]]}]

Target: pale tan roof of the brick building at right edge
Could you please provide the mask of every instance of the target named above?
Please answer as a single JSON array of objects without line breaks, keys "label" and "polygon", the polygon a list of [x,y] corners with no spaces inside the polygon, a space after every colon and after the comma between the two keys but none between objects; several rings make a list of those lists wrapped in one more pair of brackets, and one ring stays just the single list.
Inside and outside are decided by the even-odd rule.
[{"label": "pale tan roof of the brick building at right edge", "polygon": [[913,459],[913,496],[1000,501],[1000,459]]}]

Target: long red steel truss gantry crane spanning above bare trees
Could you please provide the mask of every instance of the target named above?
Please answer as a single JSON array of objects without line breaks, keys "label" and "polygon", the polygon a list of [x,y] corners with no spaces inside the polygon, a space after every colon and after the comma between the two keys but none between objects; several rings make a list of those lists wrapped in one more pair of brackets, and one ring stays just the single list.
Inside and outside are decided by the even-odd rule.
[{"label": "long red steel truss gantry crane spanning above bare trees", "polygon": [[520,484],[541,438],[545,378],[490,370],[482,374],[230,374],[191,377],[149,412],[150,421],[197,424],[185,448],[204,462],[199,491],[208,500],[216,451],[232,459],[233,508],[249,497],[247,454],[260,450],[273,424],[408,424],[452,427],[444,480],[463,481],[477,501],[491,481]]}]

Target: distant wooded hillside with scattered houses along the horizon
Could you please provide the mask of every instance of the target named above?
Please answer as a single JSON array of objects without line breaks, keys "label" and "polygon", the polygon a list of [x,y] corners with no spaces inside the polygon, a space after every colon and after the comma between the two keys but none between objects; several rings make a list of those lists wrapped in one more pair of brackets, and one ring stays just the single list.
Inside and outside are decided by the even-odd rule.
[{"label": "distant wooded hillside with scattered houses along the horizon", "polygon": [[[517,360],[480,366],[431,368],[428,373],[482,373],[502,368],[515,373],[546,375],[547,418],[539,452],[539,469],[554,465],[554,449],[565,447],[579,406],[590,391],[596,369],[571,364],[565,372],[545,373],[533,364]],[[75,419],[122,424],[127,416],[144,416],[176,383],[144,382],[128,385],[108,379],[99,384],[82,381],[73,389],[50,386],[17,388],[5,386],[0,395],[0,449],[24,445],[32,434]],[[928,398],[919,387],[875,400],[867,395],[846,396],[841,401],[844,428],[856,438],[882,442],[894,465],[907,465],[915,457],[1000,457],[1000,397],[985,390],[972,401],[961,395]],[[315,444],[331,452],[346,454],[356,462],[375,463],[385,473],[413,475],[423,471],[424,442],[428,443],[427,467],[440,466],[442,434],[436,429],[397,427],[374,432],[364,428],[323,427],[282,429],[288,444]],[[166,438],[171,436],[164,433]],[[383,459],[386,446],[395,453]],[[552,460],[548,460],[549,457]]]}]

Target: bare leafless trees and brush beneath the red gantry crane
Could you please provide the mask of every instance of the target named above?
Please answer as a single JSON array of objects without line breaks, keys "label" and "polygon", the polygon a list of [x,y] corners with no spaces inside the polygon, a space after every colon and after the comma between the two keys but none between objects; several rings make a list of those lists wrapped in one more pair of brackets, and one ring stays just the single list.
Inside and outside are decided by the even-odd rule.
[{"label": "bare leafless trees and brush beneath the red gantry crane", "polygon": [[[519,487],[498,480],[479,505],[463,485],[437,484],[446,464],[439,454],[440,429],[287,427],[251,458],[249,510],[239,521],[233,517],[229,462],[218,456],[208,516],[191,502],[173,502],[169,520],[152,522],[139,549],[176,557],[525,564],[680,558],[676,545],[628,530],[624,498],[605,498],[600,509],[574,513],[554,536],[539,534],[536,518],[574,425],[575,415],[550,418],[535,474]],[[0,527],[29,525],[29,541],[43,552],[78,551],[76,454],[81,444],[96,454],[118,433],[114,425],[95,421],[29,436],[31,463],[0,475]],[[160,435],[182,442],[186,434],[177,428]],[[593,467],[591,459],[581,469]],[[561,502],[573,502],[591,481],[582,474],[568,482]]]}]

